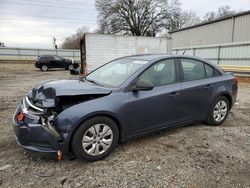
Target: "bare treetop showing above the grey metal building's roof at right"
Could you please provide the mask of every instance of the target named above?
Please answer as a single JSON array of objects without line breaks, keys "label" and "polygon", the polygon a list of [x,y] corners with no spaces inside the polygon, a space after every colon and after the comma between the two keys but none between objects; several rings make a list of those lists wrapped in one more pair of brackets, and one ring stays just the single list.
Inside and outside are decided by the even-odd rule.
[{"label": "bare treetop showing above the grey metal building's roof at right", "polygon": [[207,12],[205,14],[205,16],[203,17],[203,20],[204,21],[212,21],[212,20],[222,18],[225,16],[231,16],[235,13],[236,13],[235,10],[231,10],[230,6],[225,5],[225,6],[219,7],[217,11]]}]

